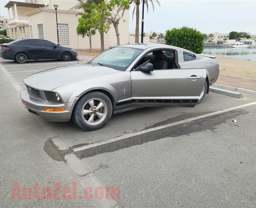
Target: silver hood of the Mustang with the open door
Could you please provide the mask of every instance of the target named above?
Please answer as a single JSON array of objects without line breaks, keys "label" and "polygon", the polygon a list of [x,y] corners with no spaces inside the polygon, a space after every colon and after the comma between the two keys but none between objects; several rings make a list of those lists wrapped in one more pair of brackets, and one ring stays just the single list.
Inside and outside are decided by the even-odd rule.
[{"label": "silver hood of the Mustang with the open door", "polygon": [[72,64],[32,74],[23,79],[23,82],[38,90],[51,91],[61,85],[77,80],[116,72],[120,71],[113,68],[103,67],[98,64]]}]

